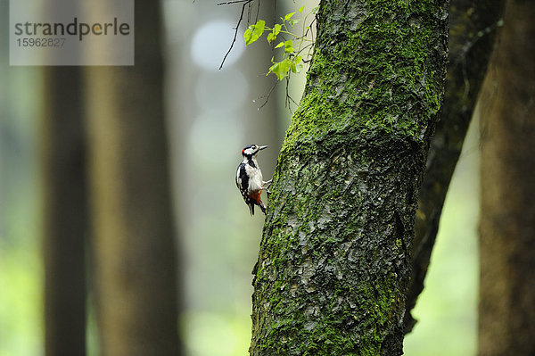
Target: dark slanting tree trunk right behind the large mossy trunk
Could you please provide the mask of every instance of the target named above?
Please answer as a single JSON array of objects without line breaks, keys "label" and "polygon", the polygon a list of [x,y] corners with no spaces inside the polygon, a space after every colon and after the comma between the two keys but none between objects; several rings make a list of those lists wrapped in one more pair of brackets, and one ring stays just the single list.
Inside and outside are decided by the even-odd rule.
[{"label": "dark slanting tree trunk right behind the large mossy trunk", "polygon": [[415,307],[416,299],[424,289],[424,277],[439,229],[442,205],[487,71],[503,3],[503,0],[451,1],[446,92],[418,197],[413,271],[405,314],[406,333],[416,322],[410,310]]}]

